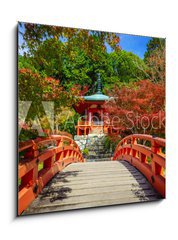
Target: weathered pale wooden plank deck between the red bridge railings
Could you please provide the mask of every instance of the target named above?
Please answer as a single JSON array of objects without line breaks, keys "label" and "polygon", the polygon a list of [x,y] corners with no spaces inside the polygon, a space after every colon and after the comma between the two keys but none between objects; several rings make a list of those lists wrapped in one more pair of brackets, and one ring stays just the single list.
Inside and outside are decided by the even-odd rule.
[{"label": "weathered pale wooden plank deck between the red bridge railings", "polygon": [[158,199],[146,178],[126,161],[73,163],[56,174],[24,214]]}]

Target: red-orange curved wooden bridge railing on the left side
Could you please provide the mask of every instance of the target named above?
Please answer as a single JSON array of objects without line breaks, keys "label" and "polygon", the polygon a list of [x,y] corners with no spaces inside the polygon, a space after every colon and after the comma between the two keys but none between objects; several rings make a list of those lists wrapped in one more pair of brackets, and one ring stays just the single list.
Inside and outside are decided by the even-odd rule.
[{"label": "red-orange curved wooden bridge railing on the left side", "polygon": [[75,141],[53,135],[19,144],[18,214],[28,208],[47,182],[68,164],[84,162]]}]

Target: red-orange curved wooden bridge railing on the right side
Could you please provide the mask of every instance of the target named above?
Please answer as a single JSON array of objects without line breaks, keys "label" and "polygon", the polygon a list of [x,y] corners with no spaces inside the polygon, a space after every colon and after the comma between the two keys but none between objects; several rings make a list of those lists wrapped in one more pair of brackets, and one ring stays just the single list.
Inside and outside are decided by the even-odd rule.
[{"label": "red-orange curved wooden bridge railing on the right side", "polygon": [[165,197],[165,139],[142,134],[127,136],[117,145],[113,160],[130,162]]}]

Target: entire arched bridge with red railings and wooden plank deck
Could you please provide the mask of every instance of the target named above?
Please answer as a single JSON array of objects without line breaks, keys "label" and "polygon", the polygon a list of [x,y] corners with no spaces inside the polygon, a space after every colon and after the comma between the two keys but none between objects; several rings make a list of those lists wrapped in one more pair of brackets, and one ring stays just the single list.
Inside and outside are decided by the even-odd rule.
[{"label": "entire arched bridge with red railings and wooden plank deck", "polygon": [[165,197],[162,138],[130,135],[111,161],[85,162],[73,139],[53,135],[21,143],[19,156],[19,215]]}]

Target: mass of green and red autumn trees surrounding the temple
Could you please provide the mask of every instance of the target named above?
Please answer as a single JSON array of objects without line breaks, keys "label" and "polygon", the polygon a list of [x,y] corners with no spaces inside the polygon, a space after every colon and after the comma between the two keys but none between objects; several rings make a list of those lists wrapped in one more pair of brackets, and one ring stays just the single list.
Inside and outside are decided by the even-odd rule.
[{"label": "mass of green and red autumn trees surrounding the temple", "polygon": [[[19,102],[32,102],[27,123],[37,116],[47,129],[42,102],[52,101],[56,126],[75,135],[78,115],[73,106],[82,101],[81,96],[96,93],[100,73],[102,92],[111,97],[106,107],[118,137],[111,136],[112,142],[131,133],[164,137],[164,39],[152,38],[141,59],[121,50],[117,33],[21,23],[19,34],[23,36]],[[71,125],[66,127],[68,117]],[[22,128],[27,131],[29,125]]]}]

